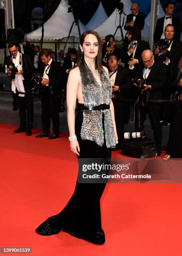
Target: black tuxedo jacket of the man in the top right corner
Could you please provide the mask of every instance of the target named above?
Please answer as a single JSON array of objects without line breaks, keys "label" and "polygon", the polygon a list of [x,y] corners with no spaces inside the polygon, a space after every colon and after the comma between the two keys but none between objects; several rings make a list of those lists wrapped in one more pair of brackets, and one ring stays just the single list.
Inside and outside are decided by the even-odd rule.
[{"label": "black tuxedo jacket of the man in the top right corner", "polygon": [[[154,32],[154,42],[155,44],[160,40],[160,37],[162,36],[163,33],[163,27],[164,27],[164,21],[165,17],[162,17],[157,20],[157,24],[155,27],[155,32]],[[180,39],[180,20],[172,16],[172,25],[175,27],[175,36],[174,38],[179,40]]]}]

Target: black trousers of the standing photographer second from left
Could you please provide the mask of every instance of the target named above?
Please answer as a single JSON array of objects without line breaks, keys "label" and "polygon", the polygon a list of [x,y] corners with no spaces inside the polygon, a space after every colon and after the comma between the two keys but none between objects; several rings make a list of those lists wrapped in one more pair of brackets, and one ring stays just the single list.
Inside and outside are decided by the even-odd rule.
[{"label": "black trousers of the standing photographer second from left", "polygon": [[[47,95],[50,96],[50,95]],[[54,97],[42,97],[42,130],[43,133],[50,133],[50,119],[53,123],[53,133],[59,135],[60,131],[60,116],[59,116],[59,105],[60,98]]]}]

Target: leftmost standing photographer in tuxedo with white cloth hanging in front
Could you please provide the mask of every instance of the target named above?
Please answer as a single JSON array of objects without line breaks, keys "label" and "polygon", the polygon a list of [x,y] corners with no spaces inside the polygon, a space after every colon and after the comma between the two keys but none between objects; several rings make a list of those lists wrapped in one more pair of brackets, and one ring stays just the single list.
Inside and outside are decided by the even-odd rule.
[{"label": "leftmost standing photographer in tuxedo with white cloth hanging in front", "polygon": [[[17,95],[17,104],[20,115],[20,127],[14,133],[27,132],[32,135],[33,127],[33,100],[31,95],[31,74],[34,72],[33,63],[28,55],[21,54],[15,44],[9,44],[10,56],[7,57],[7,75],[11,78],[13,95]],[[17,71],[13,76],[10,66],[15,65]],[[21,93],[22,92],[22,93]],[[27,120],[26,120],[27,109]]]}]

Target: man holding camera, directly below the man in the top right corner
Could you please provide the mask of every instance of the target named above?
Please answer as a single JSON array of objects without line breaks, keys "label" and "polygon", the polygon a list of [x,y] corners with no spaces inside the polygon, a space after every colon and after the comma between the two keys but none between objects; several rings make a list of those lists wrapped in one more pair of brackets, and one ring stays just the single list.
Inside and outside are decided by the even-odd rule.
[{"label": "man holding camera, directly below the man in the top right corner", "polygon": [[[164,31],[165,39],[157,42],[155,48],[155,60],[160,61],[167,67],[167,88],[163,93],[165,100],[169,100],[172,94],[171,84],[175,81],[178,72],[178,64],[182,56],[182,42],[174,39],[175,28],[172,24],[168,24]],[[166,49],[163,49],[166,46]],[[165,104],[165,115],[162,118],[162,126],[167,126],[171,123],[172,119],[172,104],[169,102]]]}]

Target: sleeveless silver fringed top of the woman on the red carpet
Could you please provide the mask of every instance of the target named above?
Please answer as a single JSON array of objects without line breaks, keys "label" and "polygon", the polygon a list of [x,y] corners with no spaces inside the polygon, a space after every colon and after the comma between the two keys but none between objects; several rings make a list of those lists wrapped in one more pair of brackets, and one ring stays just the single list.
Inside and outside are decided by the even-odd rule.
[{"label": "sleeveless silver fringed top of the woman on the red carpet", "polygon": [[[85,107],[101,104],[109,105],[112,86],[107,72],[104,69],[100,72],[100,85],[85,61],[80,65],[79,69]],[[102,113],[104,113],[104,129],[102,126]],[[95,141],[99,146],[104,144],[105,136],[107,148],[115,148],[116,139],[110,109],[84,110],[80,135],[83,140]]]}]

